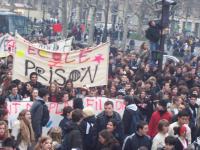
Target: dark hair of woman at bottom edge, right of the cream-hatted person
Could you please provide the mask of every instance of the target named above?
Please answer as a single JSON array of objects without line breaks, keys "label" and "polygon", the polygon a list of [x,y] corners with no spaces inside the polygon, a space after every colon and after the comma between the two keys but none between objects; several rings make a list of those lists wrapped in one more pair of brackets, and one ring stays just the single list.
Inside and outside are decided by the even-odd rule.
[{"label": "dark hair of woman at bottom edge, right of the cream-hatted person", "polygon": [[104,143],[104,145],[110,145],[112,143],[118,143],[118,141],[115,139],[113,134],[106,129],[100,131],[99,135],[102,136],[105,139],[106,143]]}]

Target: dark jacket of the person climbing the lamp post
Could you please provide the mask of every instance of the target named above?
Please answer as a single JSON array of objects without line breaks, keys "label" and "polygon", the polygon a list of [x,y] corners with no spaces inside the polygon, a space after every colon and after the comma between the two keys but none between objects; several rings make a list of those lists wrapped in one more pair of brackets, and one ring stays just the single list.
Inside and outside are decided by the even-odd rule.
[{"label": "dark jacket of the person climbing the lamp post", "polygon": [[160,30],[158,27],[149,27],[146,31],[146,38],[151,42],[158,42],[160,39]]}]

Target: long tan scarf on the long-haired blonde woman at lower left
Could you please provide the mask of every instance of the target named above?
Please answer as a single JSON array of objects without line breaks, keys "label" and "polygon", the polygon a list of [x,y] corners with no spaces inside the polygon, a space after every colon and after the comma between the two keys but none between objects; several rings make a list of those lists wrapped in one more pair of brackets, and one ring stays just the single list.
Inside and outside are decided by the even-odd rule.
[{"label": "long tan scarf on the long-haired blonde woman at lower left", "polygon": [[20,138],[21,141],[31,145],[34,141],[34,132],[31,123],[20,120]]}]

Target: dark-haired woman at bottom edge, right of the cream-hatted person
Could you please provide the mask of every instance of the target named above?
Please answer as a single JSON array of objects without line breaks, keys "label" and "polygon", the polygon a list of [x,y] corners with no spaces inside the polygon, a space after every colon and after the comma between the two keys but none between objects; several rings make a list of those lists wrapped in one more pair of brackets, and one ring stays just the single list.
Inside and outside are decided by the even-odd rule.
[{"label": "dark-haired woman at bottom edge, right of the cream-hatted person", "polygon": [[121,150],[119,142],[108,130],[102,130],[99,133],[99,142],[102,145],[101,150]]}]

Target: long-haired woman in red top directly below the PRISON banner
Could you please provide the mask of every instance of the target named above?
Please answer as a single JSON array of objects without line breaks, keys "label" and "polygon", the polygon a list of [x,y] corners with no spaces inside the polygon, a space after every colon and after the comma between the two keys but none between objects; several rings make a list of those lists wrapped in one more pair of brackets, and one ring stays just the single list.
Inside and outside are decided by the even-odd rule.
[{"label": "long-haired woman in red top directly below the PRISON banner", "polygon": [[49,102],[61,102],[60,89],[56,82],[53,82],[49,86]]}]

